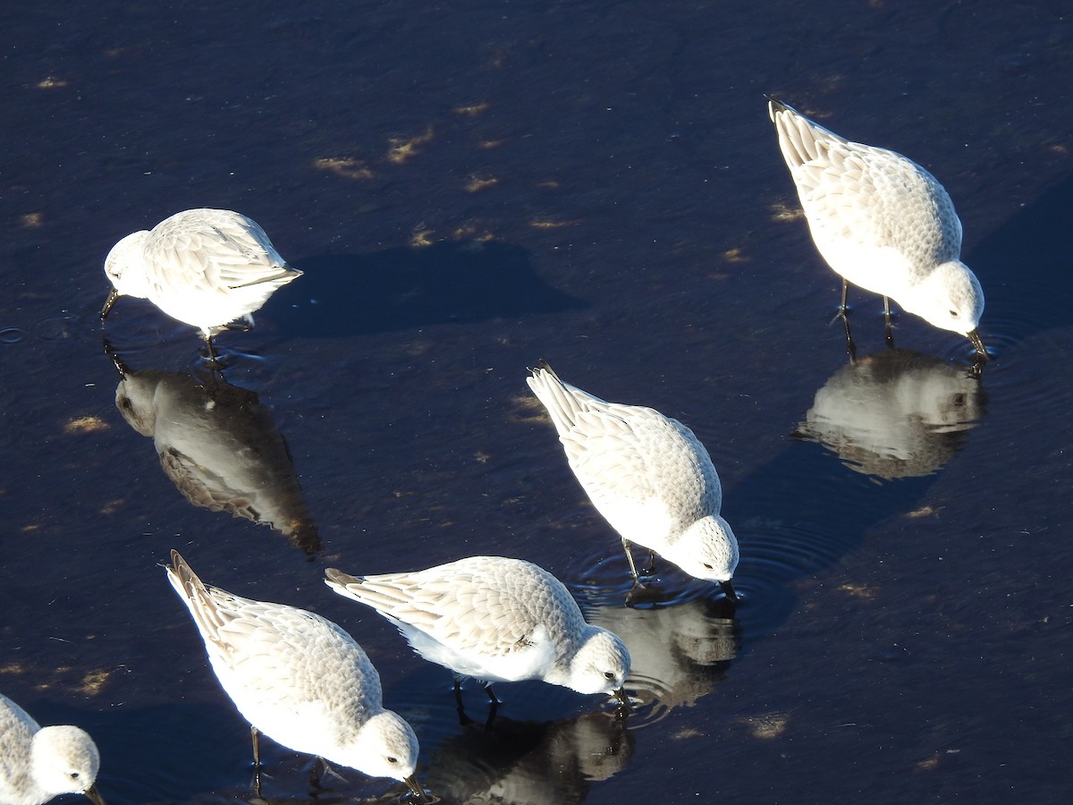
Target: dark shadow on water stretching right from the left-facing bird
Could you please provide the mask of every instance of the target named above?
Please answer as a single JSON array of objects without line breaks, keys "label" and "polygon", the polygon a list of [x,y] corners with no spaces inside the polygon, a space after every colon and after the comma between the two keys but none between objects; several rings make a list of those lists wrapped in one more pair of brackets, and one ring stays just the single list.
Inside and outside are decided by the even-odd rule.
[{"label": "dark shadow on water stretching right from the left-facing bird", "polygon": [[525,249],[495,240],[324,254],[295,265],[305,272],[295,294],[269,303],[274,319],[294,336],[351,336],[585,307],[539,277]]}]

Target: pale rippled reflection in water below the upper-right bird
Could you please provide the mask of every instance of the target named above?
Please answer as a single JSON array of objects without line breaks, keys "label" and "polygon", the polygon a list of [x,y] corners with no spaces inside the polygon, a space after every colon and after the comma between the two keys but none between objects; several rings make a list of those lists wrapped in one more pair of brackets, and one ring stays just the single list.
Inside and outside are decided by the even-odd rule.
[{"label": "pale rippled reflection in water below the upper-right bird", "polygon": [[936,472],[984,415],[979,372],[891,348],[836,371],[794,433],[884,480]]}]

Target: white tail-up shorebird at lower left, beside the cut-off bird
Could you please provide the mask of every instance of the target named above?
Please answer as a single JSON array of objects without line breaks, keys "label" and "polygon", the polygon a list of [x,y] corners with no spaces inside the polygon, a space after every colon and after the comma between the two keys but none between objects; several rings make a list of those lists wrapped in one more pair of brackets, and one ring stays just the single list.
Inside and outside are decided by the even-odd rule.
[{"label": "white tail-up shorebird at lower left, beside the cut-off bird", "polygon": [[296,751],[401,780],[424,801],[413,776],[417,737],[384,709],[380,675],[350,634],[305,610],[206,587],[175,551],[166,570],[220,684],[250,722],[259,771],[263,732]]}]

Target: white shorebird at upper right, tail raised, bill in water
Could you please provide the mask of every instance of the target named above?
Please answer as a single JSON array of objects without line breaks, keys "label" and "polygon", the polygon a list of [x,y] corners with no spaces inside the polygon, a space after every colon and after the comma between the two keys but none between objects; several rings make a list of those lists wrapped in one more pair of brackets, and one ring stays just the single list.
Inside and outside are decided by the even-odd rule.
[{"label": "white shorebird at upper right, tail raised, bill in water", "polygon": [[960,260],[961,222],[938,179],[900,153],[850,141],[773,98],[768,114],[812,240],[848,283],[893,298],[941,330],[976,333],[984,292]]}]

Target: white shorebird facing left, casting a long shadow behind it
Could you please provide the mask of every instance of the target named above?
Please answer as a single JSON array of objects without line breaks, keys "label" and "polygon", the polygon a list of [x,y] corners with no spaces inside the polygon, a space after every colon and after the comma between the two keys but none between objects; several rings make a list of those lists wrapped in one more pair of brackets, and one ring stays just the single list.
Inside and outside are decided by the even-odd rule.
[{"label": "white shorebird facing left, casting a long shadow behind it", "polygon": [[244,319],[253,325],[276,289],[300,277],[258,223],[230,209],[188,209],[127,235],[104,261],[112,280],[101,319],[119,296],[149,299],[173,319],[212,336]]}]

